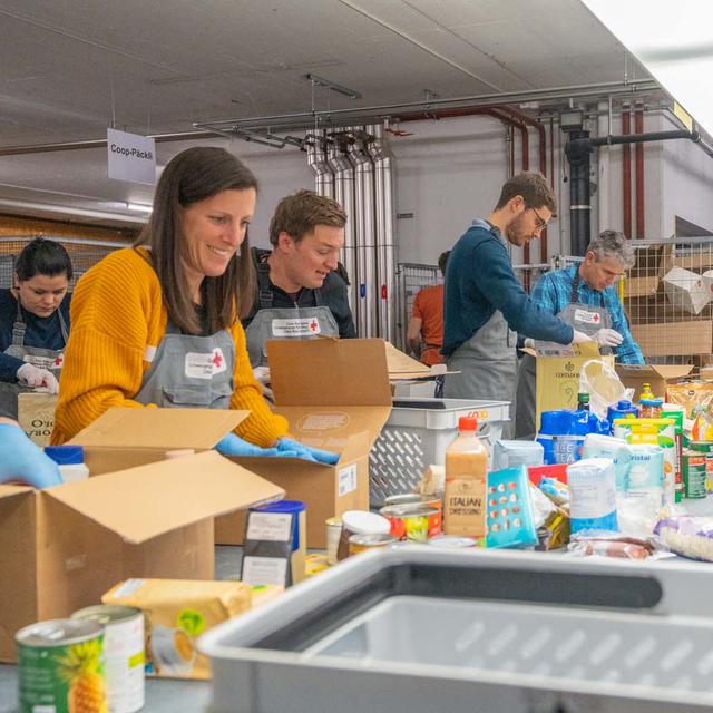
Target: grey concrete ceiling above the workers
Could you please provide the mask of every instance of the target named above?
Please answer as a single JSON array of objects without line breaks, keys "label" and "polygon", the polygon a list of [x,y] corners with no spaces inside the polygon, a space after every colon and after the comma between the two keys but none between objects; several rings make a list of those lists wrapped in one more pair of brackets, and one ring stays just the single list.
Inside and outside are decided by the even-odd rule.
[{"label": "grey concrete ceiling above the workers", "polygon": [[[646,77],[579,0],[0,0],[0,148]],[[0,156],[3,211],[149,196],[106,150]]]}]

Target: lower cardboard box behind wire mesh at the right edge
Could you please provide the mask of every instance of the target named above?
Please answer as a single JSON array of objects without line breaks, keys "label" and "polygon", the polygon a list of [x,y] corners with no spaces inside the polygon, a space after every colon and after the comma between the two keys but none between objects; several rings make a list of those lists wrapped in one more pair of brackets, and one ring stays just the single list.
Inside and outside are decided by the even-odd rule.
[{"label": "lower cardboard box behind wire mesh at the right edge", "polygon": [[713,340],[713,322],[660,322],[632,324],[632,336],[644,356],[687,356],[710,354]]}]

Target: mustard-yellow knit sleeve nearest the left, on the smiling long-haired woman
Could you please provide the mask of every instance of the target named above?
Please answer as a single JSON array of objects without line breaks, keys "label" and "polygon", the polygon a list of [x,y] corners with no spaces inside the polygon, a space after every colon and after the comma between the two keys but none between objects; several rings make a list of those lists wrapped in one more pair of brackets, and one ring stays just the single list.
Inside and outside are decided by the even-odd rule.
[{"label": "mustard-yellow knit sleeve nearest the left, on the smiling long-haired woman", "polygon": [[53,445],[69,440],[111,407],[141,407],[134,397],[140,390],[144,358],[147,345],[158,345],[152,341],[164,333],[166,316],[154,271],[127,252],[98,263],[75,290]]}]

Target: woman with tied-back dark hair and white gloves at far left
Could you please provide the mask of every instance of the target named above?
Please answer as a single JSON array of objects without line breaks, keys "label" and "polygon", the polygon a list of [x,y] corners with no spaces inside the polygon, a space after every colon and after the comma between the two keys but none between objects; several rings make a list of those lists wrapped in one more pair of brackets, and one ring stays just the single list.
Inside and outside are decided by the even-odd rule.
[{"label": "woman with tied-back dark hair and white gloves at far left", "polygon": [[59,391],[71,277],[65,247],[43,237],[14,261],[13,285],[0,290],[0,416],[17,418],[22,391]]}]

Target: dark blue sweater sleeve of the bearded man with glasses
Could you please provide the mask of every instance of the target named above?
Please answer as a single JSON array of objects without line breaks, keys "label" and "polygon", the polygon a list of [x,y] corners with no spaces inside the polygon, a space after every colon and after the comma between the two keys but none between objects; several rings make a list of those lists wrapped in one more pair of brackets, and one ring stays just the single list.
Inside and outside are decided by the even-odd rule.
[{"label": "dark blue sweater sleeve of the bearded man with glasses", "polygon": [[511,330],[558,344],[572,342],[572,326],[538,307],[522,290],[501,244],[496,241],[480,243],[473,252],[472,274],[480,292],[502,312]]}]

